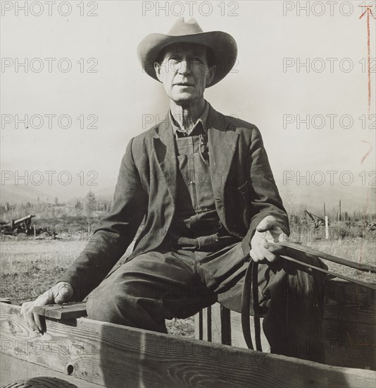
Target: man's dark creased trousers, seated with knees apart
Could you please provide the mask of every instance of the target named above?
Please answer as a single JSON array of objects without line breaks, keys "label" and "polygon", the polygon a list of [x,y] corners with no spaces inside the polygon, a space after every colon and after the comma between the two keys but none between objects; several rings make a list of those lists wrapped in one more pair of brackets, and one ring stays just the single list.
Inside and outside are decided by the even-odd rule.
[{"label": "man's dark creased trousers, seated with knees apart", "polygon": [[[87,299],[87,314],[93,320],[165,333],[165,319],[194,315],[218,301],[218,296],[240,303],[247,265],[241,243],[214,253],[144,253],[102,281]],[[323,362],[325,277],[283,259],[258,267],[263,329],[272,353]]]}]

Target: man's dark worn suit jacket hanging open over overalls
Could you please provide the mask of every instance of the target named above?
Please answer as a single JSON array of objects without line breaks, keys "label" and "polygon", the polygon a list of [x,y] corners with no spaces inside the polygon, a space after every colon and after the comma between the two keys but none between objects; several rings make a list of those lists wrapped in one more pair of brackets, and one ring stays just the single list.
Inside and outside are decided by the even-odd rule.
[{"label": "man's dark worn suit jacket hanging open over overalls", "polygon": [[[274,216],[289,234],[261,134],[256,126],[224,116],[212,107],[208,114],[208,145],[215,207],[225,229],[242,240],[249,253],[256,226]],[[68,281],[80,301],[106,277],[132,242],[130,257],[157,250],[168,233],[177,198],[177,158],[170,120],[130,140],[123,157],[113,205],[101,220],[81,255],[60,281]],[[119,263],[118,263],[119,264]]]}]

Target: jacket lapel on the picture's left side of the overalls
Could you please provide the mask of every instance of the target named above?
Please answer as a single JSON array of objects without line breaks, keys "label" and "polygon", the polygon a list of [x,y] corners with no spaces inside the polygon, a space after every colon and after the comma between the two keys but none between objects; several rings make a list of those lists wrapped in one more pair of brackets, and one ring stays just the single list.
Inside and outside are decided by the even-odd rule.
[{"label": "jacket lapel on the picture's left side of the overalls", "polygon": [[175,204],[177,185],[177,159],[173,128],[168,115],[156,128],[153,136],[153,150],[165,183]]}]

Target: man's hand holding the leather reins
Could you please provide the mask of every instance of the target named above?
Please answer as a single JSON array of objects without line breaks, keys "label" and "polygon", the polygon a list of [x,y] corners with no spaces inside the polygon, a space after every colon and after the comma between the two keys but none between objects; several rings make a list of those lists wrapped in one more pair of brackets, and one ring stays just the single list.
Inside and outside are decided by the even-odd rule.
[{"label": "man's hand holding the leather reins", "polygon": [[251,255],[254,262],[262,261],[264,259],[273,262],[278,257],[272,253],[272,251],[275,251],[275,248],[277,248],[275,243],[286,240],[286,234],[284,234],[282,229],[277,226],[277,219],[272,216],[267,216],[256,227],[256,232],[251,240],[249,255]]}]

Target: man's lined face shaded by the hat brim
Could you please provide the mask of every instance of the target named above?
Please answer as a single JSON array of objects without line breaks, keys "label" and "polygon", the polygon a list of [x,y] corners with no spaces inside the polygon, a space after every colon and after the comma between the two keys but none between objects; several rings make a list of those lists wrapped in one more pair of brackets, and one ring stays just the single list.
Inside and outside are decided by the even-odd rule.
[{"label": "man's lined face shaded by the hat brim", "polygon": [[213,80],[215,66],[209,68],[206,53],[201,44],[171,44],[165,48],[161,63],[154,63],[158,80],[177,104],[199,101]]}]

